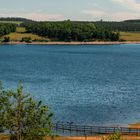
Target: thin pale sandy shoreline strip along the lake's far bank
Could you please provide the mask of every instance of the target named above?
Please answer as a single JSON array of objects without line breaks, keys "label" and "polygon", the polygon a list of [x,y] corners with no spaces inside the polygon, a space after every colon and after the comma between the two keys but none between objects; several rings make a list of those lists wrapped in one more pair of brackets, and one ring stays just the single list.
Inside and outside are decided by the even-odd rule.
[{"label": "thin pale sandy shoreline strip along the lake's far bank", "polygon": [[121,44],[140,44],[140,41],[125,41],[125,42],[105,42],[105,41],[95,41],[95,42],[0,42],[0,45],[121,45]]}]

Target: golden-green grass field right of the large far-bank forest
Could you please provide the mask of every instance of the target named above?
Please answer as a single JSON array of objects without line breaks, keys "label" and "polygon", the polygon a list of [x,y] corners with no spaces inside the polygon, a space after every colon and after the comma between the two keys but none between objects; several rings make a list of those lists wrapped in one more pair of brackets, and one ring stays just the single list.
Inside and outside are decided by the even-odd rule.
[{"label": "golden-green grass field right of the large far-bank forest", "polygon": [[140,41],[140,32],[120,32],[120,39],[126,41]]}]

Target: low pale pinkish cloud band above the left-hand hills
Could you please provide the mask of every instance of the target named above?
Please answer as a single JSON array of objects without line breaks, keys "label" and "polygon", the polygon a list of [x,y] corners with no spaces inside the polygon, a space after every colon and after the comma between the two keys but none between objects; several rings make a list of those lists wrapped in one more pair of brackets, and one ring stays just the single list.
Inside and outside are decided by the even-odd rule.
[{"label": "low pale pinkish cloud band above the left-hand hills", "polygon": [[64,20],[62,14],[46,14],[38,10],[37,12],[27,12],[22,10],[8,11],[6,9],[0,9],[0,17],[23,17],[37,21],[57,21]]}]

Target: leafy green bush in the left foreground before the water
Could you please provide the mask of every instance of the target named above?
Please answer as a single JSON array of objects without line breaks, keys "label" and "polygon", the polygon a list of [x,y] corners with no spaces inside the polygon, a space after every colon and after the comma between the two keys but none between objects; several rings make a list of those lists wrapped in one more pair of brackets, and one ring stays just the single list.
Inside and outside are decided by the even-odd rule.
[{"label": "leafy green bush in the left foreground before the water", "polygon": [[48,106],[24,94],[22,86],[16,91],[0,87],[0,131],[8,132],[11,140],[42,140],[51,136],[52,116]]}]

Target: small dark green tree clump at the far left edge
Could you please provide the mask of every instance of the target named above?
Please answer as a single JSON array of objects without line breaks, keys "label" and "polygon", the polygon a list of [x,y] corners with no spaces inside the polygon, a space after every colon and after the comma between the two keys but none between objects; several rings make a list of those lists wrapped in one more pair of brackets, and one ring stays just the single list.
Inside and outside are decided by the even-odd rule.
[{"label": "small dark green tree clump at the far left edge", "polygon": [[0,36],[16,31],[16,25],[10,23],[0,23]]}]

